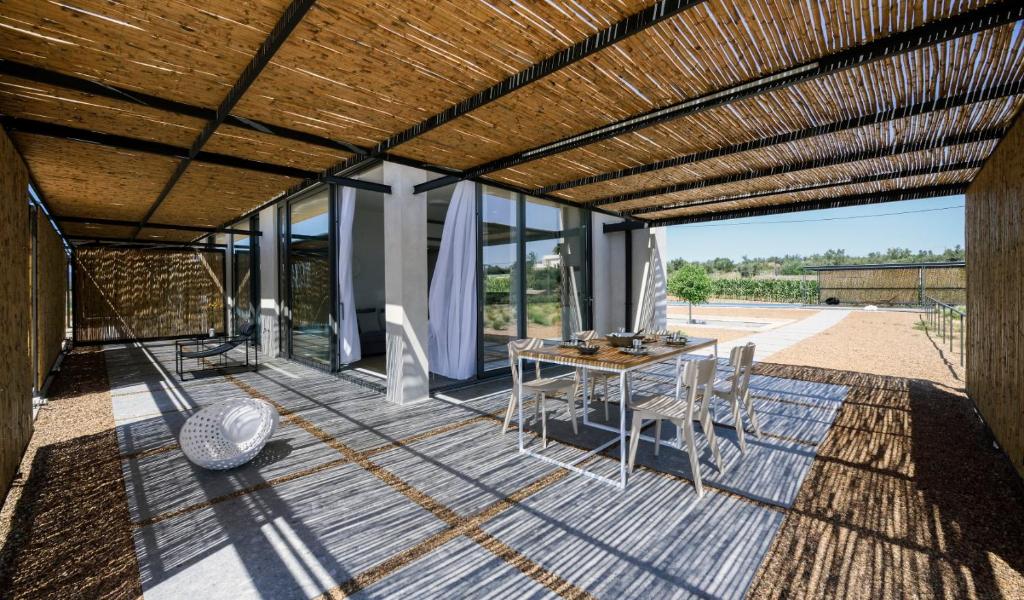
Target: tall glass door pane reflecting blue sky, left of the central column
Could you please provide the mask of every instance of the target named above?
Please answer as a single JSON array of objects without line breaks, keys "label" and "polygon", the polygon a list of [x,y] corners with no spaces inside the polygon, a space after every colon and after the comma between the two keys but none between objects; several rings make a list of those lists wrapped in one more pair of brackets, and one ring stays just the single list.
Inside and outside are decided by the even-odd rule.
[{"label": "tall glass door pane reflecting blue sky, left of the central column", "polygon": [[330,191],[291,206],[292,355],[331,363]]}]

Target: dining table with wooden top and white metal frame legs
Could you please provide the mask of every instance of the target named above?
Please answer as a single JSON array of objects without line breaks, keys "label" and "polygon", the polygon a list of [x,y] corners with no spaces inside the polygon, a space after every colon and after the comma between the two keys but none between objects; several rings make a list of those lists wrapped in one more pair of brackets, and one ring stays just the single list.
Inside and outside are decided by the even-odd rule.
[{"label": "dining table with wooden top and white metal frame legs", "polygon": [[[645,351],[642,353],[629,353],[626,351],[629,348],[613,346],[607,339],[595,339],[590,341],[589,344],[598,346],[597,351],[593,354],[585,354],[572,344],[552,344],[531,350],[522,350],[518,353],[517,357],[518,372],[525,373],[522,369],[523,361],[525,360],[560,365],[580,370],[583,384],[583,425],[594,429],[617,432],[618,435],[602,444],[599,444],[597,447],[590,449],[583,456],[573,459],[571,462],[560,461],[552,456],[534,452],[526,446],[525,438],[523,436],[523,378],[519,377],[517,383],[518,389],[516,390],[516,397],[518,398],[519,453],[557,465],[564,469],[568,469],[583,476],[597,479],[605,483],[610,483],[617,486],[620,489],[626,489],[628,447],[626,438],[629,435],[626,424],[626,412],[629,406],[630,396],[632,395],[632,386],[630,385],[631,376],[637,371],[650,369],[654,365],[674,359],[681,354],[689,354],[708,348],[714,348],[714,355],[717,358],[718,340],[715,338],[688,337],[685,341],[672,341],[668,338],[656,338],[645,341],[643,345],[643,349]],[[591,372],[608,373],[618,377],[620,408],[617,429],[612,426],[590,420],[590,386],[588,385],[588,377]],[[575,398],[572,398],[570,401],[574,402]],[[607,477],[600,473],[587,470],[582,466],[588,459],[604,452],[605,449],[613,446],[615,443],[618,444],[620,461],[617,480],[615,478]]]}]

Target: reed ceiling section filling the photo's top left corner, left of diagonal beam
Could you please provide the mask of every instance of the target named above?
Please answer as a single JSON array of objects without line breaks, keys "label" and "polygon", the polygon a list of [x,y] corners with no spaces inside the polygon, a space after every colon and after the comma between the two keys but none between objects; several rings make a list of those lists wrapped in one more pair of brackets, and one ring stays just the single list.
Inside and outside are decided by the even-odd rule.
[{"label": "reed ceiling section filling the photo's top left corner, left of diagonal beam", "polygon": [[0,57],[215,108],[287,0],[6,0]]}]

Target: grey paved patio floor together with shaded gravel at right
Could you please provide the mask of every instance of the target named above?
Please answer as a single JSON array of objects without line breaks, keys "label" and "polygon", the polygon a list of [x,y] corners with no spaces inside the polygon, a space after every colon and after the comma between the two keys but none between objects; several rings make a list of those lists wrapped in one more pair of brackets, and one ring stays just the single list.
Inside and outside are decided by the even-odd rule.
[{"label": "grey paved patio floor together with shaded gravel at right", "polygon": [[[1020,481],[970,425],[963,398],[926,382],[760,366],[752,387],[765,435],[749,436],[741,456],[718,408],[727,469],[701,447],[698,499],[686,456],[664,445],[655,458],[641,444],[625,494],[518,455],[514,432],[500,434],[507,380],[396,408],[357,375],[284,360],[181,383],[172,351],[101,352],[123,476],[112,483],[127,495],[125,544],[147,598],[1014,597],[1024,589]],[[655,371],[636,385],[666,381]],[[191,411],[232,396],[275,403],[282,426],[245,467],[194,468],[177,430]],[[564,412],[553,416],[552,456],[571,459],[612,436],[587,428],[573,436]],[[604,419],[600,403],[591,417]],[[944,451],[952,433],[974,442]],[[617,452],[587,465],[615,473]],[[30,592],[52,593],[51,584]]]}]

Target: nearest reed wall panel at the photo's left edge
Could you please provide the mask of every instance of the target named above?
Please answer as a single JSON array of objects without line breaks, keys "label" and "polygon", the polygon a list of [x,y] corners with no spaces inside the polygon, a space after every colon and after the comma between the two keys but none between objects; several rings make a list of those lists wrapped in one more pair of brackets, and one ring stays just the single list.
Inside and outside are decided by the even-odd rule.
[{"label": "nearest reed wall panel at the photo's left edge", "polygon": [[32,437],[29,176],[0,131],[0,502]]}]

